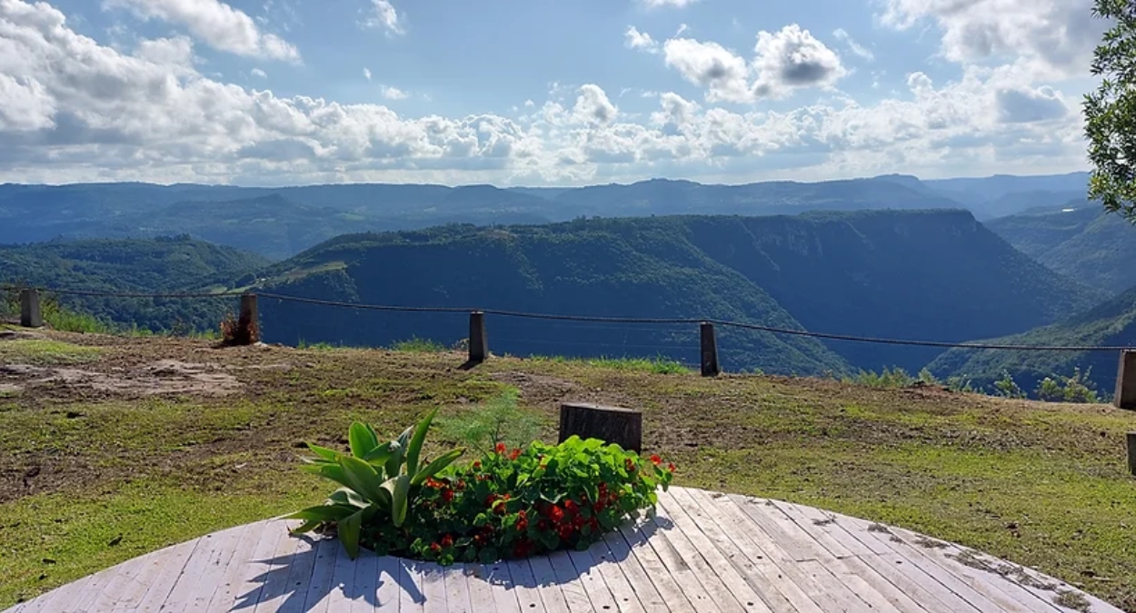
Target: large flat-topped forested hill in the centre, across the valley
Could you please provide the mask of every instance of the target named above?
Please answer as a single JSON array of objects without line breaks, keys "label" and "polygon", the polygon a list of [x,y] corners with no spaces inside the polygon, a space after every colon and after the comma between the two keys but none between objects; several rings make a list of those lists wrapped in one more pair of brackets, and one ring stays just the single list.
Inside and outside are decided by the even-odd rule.
[{"label": "large flat-topped forested hill in the centre, across the valley", "polygon": [[[348,235],[274,266],[267,276],[270,291],[364,303],[732,319],[942,341],[1024,331],[1102,297],[1037,264],[959,210],[580,219]],[[316,314],[320,309],[324,316]],[[265,328],[292,343],[386,344],[410,331],[445,342],[466,336],[460,317],[361,311],[332,317],[326,309],[274,305],[262,311]],[[612,331],[500,318],[492,329],[495,350],[520,354],[698,356],[694,330]],[[817,373],[851,362],[918,370],[936,353],[719,334],[734,369]]]}]

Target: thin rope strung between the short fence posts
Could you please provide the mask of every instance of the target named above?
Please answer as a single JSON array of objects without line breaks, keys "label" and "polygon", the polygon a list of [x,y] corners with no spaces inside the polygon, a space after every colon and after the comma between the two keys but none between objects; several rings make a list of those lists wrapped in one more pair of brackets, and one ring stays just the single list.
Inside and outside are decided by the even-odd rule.
[{"label": "thin rope strung between the short fence posts", "polygon": [[[0,285],[2,291],[23,289],[14,285]],[[103,296],[103,297],[143,297],[143,299],[215,299],[240,296],[247,292],[216,292],[216,293],[177,293],[177,294],[145,294],[145,293],[117,293],[98,292],[87,289],[51,289],[36,287],[41,292],[51,292],[64,295],[76,296]],[[465,306],[399,306],[385,304],[359,304],[353,302],[342,302],[335,300],[320,300],[302,296],[289,296],[284,294],[257,293],[260,297],[274,299],[304,304],[318,304],[321,306],[339,306],[346,309],[362,309],[368,311],[394,311],[394,312],[426,312],[426,313],[469,313],[482,312],[498,317],[512,317],[520,319],[541,319],[553,321],[588,321],[596,324],[649,324],[649,325],[701,325],[713,324],[724,327],[742,328],[747,330],[765,331],[770,334],[784,334],[791,336],[804,336],[809,338],[826,338],[829,341],[849,341],[852,343],[872,343],[879,345],[905,345],[917,347],[939,347],[939,349],[972,349],[972,350],[1006,350],[1006,351],[1070,351],[1070,352],[1118,352],[1129,351],[1136,347],[1131,345],[1004,345],[995,343],[951,343],[945,341],[919,341],[910,338],[880,338],[872,336],[854,336],[846,334],[815,333],[809,330],[796,330],[792,328],[777,328],[762,326],[759,324],[745,324],[741,321],[726,321],[720,319],[690,319],[690,318],[652,318],[652,317],[607,317],[607,316],[575,316],[558,313],[532,313],[525,311],[507,311],[501,309],[471,309]]]}]

